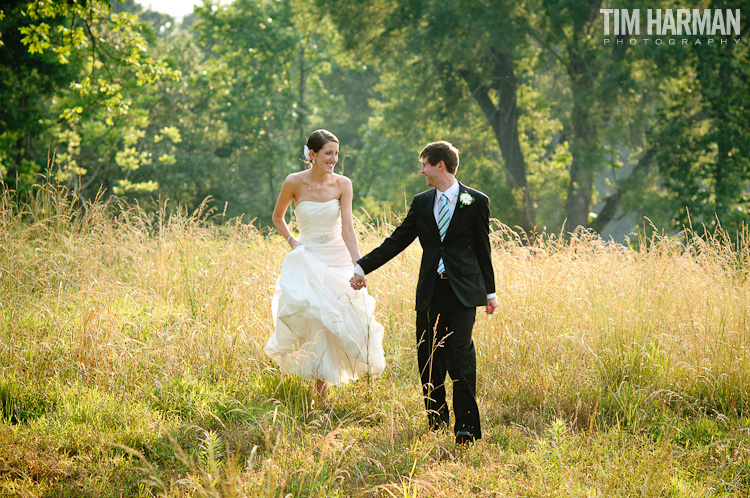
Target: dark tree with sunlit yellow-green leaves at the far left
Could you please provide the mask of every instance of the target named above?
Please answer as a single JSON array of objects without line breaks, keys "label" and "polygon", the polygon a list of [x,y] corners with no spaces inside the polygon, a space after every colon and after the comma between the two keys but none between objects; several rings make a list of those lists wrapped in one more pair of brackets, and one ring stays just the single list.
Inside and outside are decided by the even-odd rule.
[{"label": "dark tree with sunlit yellow-green leaves at the far left", "polygon": [[[135,9],[132,2],[130,7]],[[4,181],[30,188],[46,166],[54,167],[57,181],[78,185],[84,198],[113,185],[121,192],[153,190],[153,181],[132,181],[133,172],[150,163],[151,153],[133,150],[129,137],[142,138],[139,130],[148,124],[139,98],[143,88],[175,80],[179,71],[148,52],[150,28],[104,0],[19,3],[10,14],[2,32],[12,52],[3,54],[13,59],[0,60],[0,71],[13,77],[3,78],[0,93],[24,113],[20,122],[10,109],[8,118],[0,117],[11,130],[3,133],[0,151]],[[24,61],[20,71],[19,60]],[[45,73],[49,83],[35,91],[37,75]],[[31,95],[37,103],[29,102]],[[116,121],[127,122],[125,129]],[[125,140],[119,142],[118,135]]]}]

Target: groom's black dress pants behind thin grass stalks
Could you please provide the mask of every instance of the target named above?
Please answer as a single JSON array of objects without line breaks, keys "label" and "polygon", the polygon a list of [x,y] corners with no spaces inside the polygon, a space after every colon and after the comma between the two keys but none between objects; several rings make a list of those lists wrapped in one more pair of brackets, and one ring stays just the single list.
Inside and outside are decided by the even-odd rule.
[{"label": "groom's black dress pants behind thin grass stalks", "polygon": [[461,304],[448,280],[439,279],[430,306],[417,311],[417,358],[430,428],[450,425],[445,374],[453,381],[454,432],[482,437],[476,401],[477,360],[471,331],[476,308]]}]

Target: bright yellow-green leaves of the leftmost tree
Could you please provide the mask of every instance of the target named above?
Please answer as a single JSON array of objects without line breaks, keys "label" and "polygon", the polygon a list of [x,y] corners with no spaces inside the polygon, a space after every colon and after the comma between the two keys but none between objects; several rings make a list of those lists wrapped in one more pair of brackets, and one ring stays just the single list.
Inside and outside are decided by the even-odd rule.
[{"label": "bright yellow-green leaves of the leftmost tree", "polygon": [[[132,1],[125,7],[128,5],[135,8]],[[3,11],[6,11],[5,7]],[[106,0],[28,1],[17,4],[10,12],[13,15],[9,18],[14,24],[7,28],[3,26],[3,42],[11,42],[18,52],[18,37],[28,49],[28,60],[43,60],[50,67],[55,61],[67,70],[67,78],[56,83],[69,81],[70,84],[65,88],[53,84],[49,92],[40,92],[37,98],[44,99],[44,104],[34,107],[31,111],[33,117],[29,118],[37,120],[41,129],[47,132],[45,136],[36,134],[36,148],[47,149],[53,155],[55,146],[63,145],[57,155],[57,179],[67,181],[83,199],[85,191],[80,189],[81,184],[113,183],[116,180],[112,178],[113,174],[127,177],[129,172],[146,163],[148,153],[134,154],[132,144],[127,143],[128,136],[140,134],[138,130],[124,133],[126,143],[118,144],[124,147],[115,158],[117,169],[97,167],[90,171],[80,162],[85,156],[83,148],[106,142],[106,130],[114,127],[116,120],[130,128],[145,125],[142,117],[128,122],[121,119],[131,111],[133,101],[142,93],[143,87],[179,77],[164,61],[149,54],[153,32],[146,23],[133,12],[123,9],[113,12]],[[12,73],[16,81],[21,82],[36,77],[29,69],[22,67],[19,72],[10,61],[5,62],[1,70]],[[10,145],[8,137],[19,134],[18,127],[12,126],[15,130],[3,132],[4,146]],[[29,137],[27,140],[33,141],[32,134],[26,136]],[[17,150],[30,153],[26,149]],[[35,153],[40,155],[38,151]],[[9,153],[5,148],[0,153],[9,164],[4,168],[7,173],[18,173],[20,168],[27,177],[33,178],[41,168],[40,164],[29,165],[19,157],[11,162],[11,155],[12,151]],[[99,163],[101,165],[102,161]],[[106,173],[102,173],[102,169]],[[127,179],[124,181],[125,185],[134,188],[153,187],[152,184],[134,186],[127,183]],[[93,190],[98,190],[98,186]]]}]

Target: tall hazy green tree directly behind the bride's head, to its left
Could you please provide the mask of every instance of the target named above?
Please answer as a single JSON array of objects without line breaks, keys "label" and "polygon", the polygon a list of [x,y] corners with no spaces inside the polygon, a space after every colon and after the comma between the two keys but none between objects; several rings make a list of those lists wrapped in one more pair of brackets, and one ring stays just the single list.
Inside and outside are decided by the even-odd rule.
[{"label": "tall hazy green tree directly behind the bride's head, to its left", "polygon": [[191,82],[202,85],[199,101],[224,131],[215,143],[216,155],[224,158],[221,176],[205,179],[218,180],[209,191],[264,220],[286,174],[301,167],[310,116],[326,100],[322,45],[307,36],[293,7],[206,3],[193,25],[206,58],[202,75]]}]

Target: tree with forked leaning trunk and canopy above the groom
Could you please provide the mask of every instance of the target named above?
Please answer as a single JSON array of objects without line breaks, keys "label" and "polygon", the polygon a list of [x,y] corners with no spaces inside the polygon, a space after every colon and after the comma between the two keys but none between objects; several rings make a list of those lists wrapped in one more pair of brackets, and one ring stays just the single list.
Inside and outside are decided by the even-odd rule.
[{"label": "tree with forked leaning trunk and canopy above the groom", "polygon": [[[522,42],[504,9],[473,1],[318,2],[334,19],[350,47],[381,73],[395,71],[404,80],[418,80],[416,117],[450,122],[457,109],[473,99],[482,111],[502,152],[510,189],[517,193],[519,225],[527,233],[536,226],[527,164],[518,131],[518,81],[515,56]],[[460,22],[457,20],[460,19]],[[413,107],[412,107],[413,108]],[[455,122],[455,121],[454,121]]]}]

